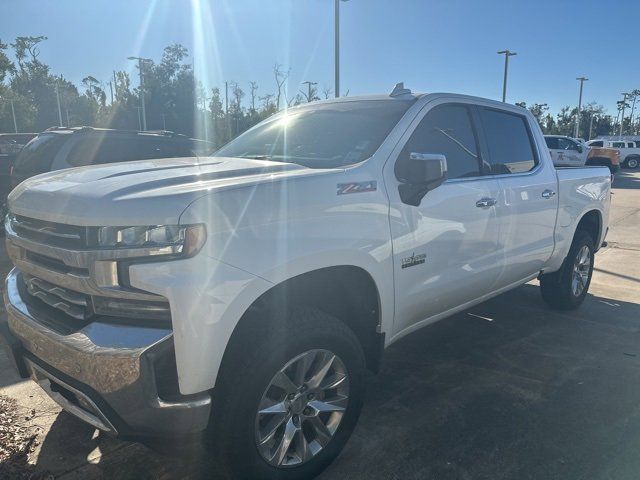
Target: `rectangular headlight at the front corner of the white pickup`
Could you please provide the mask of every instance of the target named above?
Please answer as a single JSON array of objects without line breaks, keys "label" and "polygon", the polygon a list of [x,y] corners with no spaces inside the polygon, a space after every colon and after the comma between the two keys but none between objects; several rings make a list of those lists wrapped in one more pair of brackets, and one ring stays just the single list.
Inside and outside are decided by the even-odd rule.
[{"label": "rectangular headlight at the front corner of the white pickup", "polygon": [[204,225],[100,227],[98,245],[105,248],[149,248],[154,254],[197,253],[207,238]]}]

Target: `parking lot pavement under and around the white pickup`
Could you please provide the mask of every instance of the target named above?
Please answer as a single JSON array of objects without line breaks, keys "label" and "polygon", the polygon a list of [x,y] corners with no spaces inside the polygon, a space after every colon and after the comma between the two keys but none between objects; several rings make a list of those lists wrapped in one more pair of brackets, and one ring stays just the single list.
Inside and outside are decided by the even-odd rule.
[{"label": "parking lot pavement under and around the white pickup", "polygon": [[[618,175],[614,187],[609,246],[579,310],[549,310],[532,282],[394,344],[321,478],[637,479],[640,173]],[[18,382],[4,355],[0,394],[36,411],[29,422],[42,443],[25,465],[35,473],[215,478],[202,452],[168,460],[97,435]]]}]

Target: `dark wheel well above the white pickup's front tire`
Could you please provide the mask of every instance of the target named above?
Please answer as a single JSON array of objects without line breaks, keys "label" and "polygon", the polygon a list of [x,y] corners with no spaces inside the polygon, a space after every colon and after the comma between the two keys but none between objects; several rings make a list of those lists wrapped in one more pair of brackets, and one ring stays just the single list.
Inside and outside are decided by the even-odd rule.
[{"label": "dark wheel well above the white pickup's front tire", "polygon": [[378,371],[384,348],[378,286],[364,268],[336,265],[290,277],[255,299],[231,333],[220,373],[239,352],[254,348],[270,330],[282,326],[274,325],[274,319],[286,318],[296,306],[317,308],[344,322],[358,338],[367,368]]}]

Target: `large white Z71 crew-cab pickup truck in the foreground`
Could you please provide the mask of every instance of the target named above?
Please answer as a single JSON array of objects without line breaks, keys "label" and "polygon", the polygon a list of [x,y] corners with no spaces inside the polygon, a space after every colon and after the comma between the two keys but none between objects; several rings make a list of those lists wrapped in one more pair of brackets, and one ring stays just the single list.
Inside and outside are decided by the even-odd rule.
[{"label": "large white Z71 crew-cab pickup truck in the foreground", "polygon": [[20,184],[0,328],[20,373],[103,431],[205,432],[235,478],[309,478],[384,347],[536,278],[580,305],[610,187],[556,170],[505,103],[401,85],[310,103],[213,157]]}]

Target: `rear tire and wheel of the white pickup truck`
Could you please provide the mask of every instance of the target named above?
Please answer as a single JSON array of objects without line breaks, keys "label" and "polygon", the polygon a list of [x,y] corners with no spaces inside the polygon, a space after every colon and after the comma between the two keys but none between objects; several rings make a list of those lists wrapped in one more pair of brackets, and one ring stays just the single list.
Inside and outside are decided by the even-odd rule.
[{"label": "rear tire and wheel of the white pickup truck", "polygon": [[[560,270],[540,277],[542,298],[549,306],[558,310],[573,310],[580,306],[591,284],[594,252],[591,235],[578,230]],[[588,265],[581,262],[585,253]]]}]

